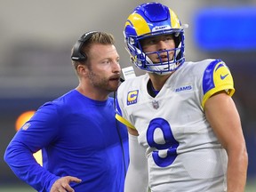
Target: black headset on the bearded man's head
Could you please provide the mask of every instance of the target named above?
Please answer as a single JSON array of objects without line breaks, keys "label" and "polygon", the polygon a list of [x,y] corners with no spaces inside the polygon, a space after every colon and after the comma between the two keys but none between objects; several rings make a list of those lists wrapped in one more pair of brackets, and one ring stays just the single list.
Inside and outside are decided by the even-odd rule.
[{"label": "black headset on the bearded man's head", "polygon": [[74,45],[73,52],[71,55],[71,60],[74,61],[84,61],[87,60],[86,54],[82,51],[82,47],[85,42],[87,42],[93,34],[98,33],[98,31],[89,31],[87,33],[84,33],[83,36],[80,37],[76,41],[76,44]]}]

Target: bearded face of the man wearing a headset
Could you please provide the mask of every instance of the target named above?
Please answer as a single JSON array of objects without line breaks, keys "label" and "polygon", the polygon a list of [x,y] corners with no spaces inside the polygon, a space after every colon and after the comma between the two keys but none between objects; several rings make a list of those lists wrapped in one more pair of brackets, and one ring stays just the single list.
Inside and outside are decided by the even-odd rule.
[{"label": "bearded face of the man wearing a headset", "polygon": [[89,55],[88,78],[92,86],[106,92],[115,92],[121,71],[116,47],[110,44],[93,44]]}]

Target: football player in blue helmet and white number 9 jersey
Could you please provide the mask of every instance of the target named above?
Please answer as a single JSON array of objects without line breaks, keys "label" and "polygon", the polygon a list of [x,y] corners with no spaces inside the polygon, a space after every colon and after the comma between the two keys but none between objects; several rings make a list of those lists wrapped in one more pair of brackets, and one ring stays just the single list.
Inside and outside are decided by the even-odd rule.
[{"label": "football player in blue helmet and white number 9 jersey", "polygon": [[163,4],[137,6],[124,38],[147,72],[117,92],[116,118],[129,132],[125,191],[244,191],[248,157],[227,65],[185,62],[184,27]]}]

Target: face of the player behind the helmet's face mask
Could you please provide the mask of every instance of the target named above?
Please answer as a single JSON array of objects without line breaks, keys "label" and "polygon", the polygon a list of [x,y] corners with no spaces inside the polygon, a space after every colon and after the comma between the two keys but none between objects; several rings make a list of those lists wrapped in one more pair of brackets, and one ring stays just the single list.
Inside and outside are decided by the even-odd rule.
[{"label": "face of the player behind the helmet's face mask", "polygon": [[[149,59],[154,63],[159,63],[161,60],[163,62],[173,59],[174,51],[164,52],[166,50],[173,50],[175,48],[175,43],[172,35],[161,35],[152,36],[140,41],[143,52],[145,52]],[[148,54],[148,52],[160,52],[159,54],[153,53]],[[161,60],[160,60],[161,59]]]}]

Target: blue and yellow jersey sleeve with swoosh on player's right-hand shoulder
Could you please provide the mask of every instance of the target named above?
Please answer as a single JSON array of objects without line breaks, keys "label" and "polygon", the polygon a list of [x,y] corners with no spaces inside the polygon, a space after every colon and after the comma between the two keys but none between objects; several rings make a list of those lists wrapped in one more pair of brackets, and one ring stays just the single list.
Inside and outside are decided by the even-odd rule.
[{"label": "blue and yellow jersey sleeve with swoosh on player's right-hand shoulder", "polygon": [[202,107],[206,100],[220,91],[232,96],[235,92],[234,81],[228,66],[222,60],[213,60],[204,70]]}]

